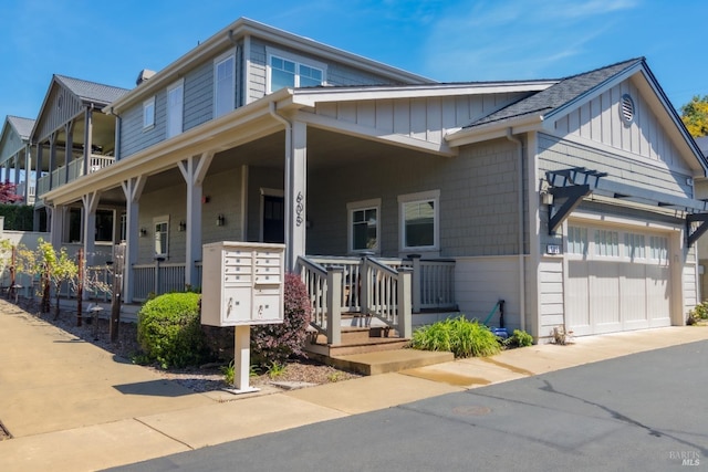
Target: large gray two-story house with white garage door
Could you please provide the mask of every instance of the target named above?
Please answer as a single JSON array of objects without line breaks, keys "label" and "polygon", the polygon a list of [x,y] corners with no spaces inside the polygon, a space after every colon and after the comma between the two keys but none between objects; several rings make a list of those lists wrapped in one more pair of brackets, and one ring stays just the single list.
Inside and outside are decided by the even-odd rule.
[{"label": "large gray two-story house with white garage door", "polygon": [[[414,312],[483,318],[504,300],[540,342],[680,325],[697,302],[687,219],[707,162],[644,59],[437,83],[240,19],[104,113],[115,161],[87,176],[84,154],[83,176],[40,193],[54,216],[84,209],[87,251],[113,209],[127,302],[199,286],[202,244],[223,240],[285,242],[311,290],[343,266],[342,310],[391,305],[368,285],[408,265]],[[46,141],[61,128],[41,117]],[[72,228],[52,218],[54,243]]]}]

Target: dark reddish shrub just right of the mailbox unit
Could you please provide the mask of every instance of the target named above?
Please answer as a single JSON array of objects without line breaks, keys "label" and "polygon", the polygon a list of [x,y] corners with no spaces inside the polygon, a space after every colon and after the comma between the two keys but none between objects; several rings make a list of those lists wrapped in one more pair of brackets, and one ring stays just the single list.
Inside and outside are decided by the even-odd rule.
[{"label": "dark reddish shrub just right of the mailbox unit", "polygon": [[296,274],[285,274],[283,304],[283,323],[251,327],[251,364],[263,370],[305,355],[312,307],[305,284]]}]

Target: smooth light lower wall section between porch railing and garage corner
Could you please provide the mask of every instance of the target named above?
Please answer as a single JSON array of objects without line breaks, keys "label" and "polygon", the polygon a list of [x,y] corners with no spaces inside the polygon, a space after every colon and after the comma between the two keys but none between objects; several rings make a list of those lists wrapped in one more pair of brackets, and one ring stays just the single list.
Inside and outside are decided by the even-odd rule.
[{"label": "smooth light lower wall section between porch railing and garage corner", "polygon": [[[460,313],[483,322],[500,300],[504,301],[504,327],[521,329],[519,258],[456,258],[455,296]],[[499,312],[489,321],[499,326]]]}]

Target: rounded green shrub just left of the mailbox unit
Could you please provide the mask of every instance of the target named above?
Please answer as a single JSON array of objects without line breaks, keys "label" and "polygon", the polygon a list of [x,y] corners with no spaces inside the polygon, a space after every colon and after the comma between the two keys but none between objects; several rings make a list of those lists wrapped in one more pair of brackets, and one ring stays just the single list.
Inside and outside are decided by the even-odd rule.
[{"label": "rounded green shrub just left of the mailbox unit", "polygon": [[168,293],[147,301],[138,313],[137,339],[147,358],[165,369],[205,361],[199,294]]}]

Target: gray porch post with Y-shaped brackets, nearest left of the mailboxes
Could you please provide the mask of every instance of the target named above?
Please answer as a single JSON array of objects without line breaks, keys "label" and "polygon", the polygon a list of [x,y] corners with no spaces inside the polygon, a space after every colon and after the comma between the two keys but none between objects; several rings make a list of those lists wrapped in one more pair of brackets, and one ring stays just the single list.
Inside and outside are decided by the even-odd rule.
[{"label": "gray porch post with Y-shaped brackets, nearest left of the mailboxes", "polygon": [[187,182],[187,244],[185,254],[185,284],[199,286],[195,263],[201,260],[201,188],[214,159],[214,153],[190,156],[178,164]]}]

